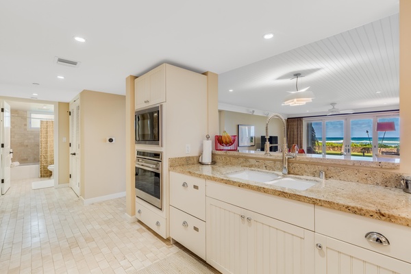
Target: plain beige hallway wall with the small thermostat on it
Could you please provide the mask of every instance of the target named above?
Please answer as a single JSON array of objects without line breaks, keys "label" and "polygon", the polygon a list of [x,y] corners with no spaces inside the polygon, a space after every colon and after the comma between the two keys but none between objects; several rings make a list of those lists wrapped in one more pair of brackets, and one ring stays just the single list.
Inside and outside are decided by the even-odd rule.
[{"label": "plain beige hallway wall with the small thermostat on it", "polygon": [[80,131],[82,197],[125,192],[125,96],[81,92]]}]

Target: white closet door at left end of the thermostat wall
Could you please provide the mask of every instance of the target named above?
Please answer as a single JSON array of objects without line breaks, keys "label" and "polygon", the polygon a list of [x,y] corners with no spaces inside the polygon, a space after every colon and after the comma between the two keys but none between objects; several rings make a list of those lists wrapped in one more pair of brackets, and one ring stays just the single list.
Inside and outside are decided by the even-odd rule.
[{"label": "white closet door at left end of the thermostat wall", "polygon": [[80,196],[80,102],[70,103],[70,180],[69,185]]}]

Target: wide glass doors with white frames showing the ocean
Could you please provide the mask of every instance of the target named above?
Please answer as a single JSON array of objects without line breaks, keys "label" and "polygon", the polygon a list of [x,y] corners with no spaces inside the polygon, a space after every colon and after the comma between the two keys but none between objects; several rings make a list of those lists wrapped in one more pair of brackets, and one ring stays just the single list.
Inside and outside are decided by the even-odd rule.
[{"label": "wide glass doors with white frames showing the ocean", "polygon": [[[377,123],[386,122],[390,127],[377,129]],[[308,118],[304,119],[303,136],[303,147],[308,154],[399,155],[399,114],[385,112]]]}]

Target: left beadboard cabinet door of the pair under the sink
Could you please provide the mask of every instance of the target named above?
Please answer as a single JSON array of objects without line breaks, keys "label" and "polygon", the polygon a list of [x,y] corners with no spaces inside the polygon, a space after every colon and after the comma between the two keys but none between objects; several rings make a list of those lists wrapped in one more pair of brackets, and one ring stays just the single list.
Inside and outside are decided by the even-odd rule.
[{"label": "left beadboard cabinet door of the pair under the sink", "polygon": [[247,273],[245,210],[207,197],[206,258],[221,273]]}]

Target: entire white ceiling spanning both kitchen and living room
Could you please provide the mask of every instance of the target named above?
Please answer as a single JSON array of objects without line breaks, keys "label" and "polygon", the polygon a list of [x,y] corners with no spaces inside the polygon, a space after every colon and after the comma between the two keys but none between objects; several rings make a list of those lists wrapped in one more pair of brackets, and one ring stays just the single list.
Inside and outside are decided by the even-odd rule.
[{"label": "entire white ceiling spanning both kitchen and living room", "polygon": [[[395,108],[398,12],[398,0],[3,1],[0,96],[68,102],[86,89],[124,95],[125,77],[169,62],[218,73],[219,101],[237,108],[287,115],[329,103]],[[272,40],[262,38],[267,32]],[[56,57],[81,64],[61,66]],[[311,86],[316,99],[282,107],[294,72],[306,75],[299,87]]]}]

